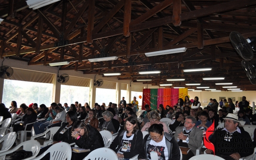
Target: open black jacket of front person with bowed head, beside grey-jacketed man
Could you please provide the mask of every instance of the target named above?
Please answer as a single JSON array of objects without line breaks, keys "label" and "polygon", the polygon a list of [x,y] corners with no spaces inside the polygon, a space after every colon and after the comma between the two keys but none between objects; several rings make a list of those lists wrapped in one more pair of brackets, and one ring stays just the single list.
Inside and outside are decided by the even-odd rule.
[{"label": "open black jacket of front person with bowed head, beside grey-jacketed man", "polygon": [[[168,133],[164,133],[165,135],[165,140],[166,140],[166,146],[168,149],[168,159],[167,160],[180,160],[180,151],[179,151],[179,147],[178,147],[178,143],[175,140],[175,138],[168,134]],[[147,158],[147,146],[149,144],[149,142],[151,141],[150,135],[147,134],[142,142],[142,149],[143,151],[140,151],[140,154],[138,156],[138,159],[146,159]]]}]

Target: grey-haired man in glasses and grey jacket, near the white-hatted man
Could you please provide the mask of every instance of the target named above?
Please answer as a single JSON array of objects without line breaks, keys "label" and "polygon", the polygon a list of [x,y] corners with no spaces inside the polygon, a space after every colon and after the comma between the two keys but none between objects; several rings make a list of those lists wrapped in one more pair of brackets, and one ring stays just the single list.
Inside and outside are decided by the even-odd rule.
[{"label": "grey-haired man in glasses and grey jacket, near the white-hatted man", "polygon": [[200,147],[202,143],[202,130],[195,127],[196,118],[187,116],[184,121],[184,127],[177,127],[174,134],[175,139],[178,141],[180,147],[187,147],[191,150],[187,155],[182,155],[183,160],[189,160],[196,155],[196,149]]}]

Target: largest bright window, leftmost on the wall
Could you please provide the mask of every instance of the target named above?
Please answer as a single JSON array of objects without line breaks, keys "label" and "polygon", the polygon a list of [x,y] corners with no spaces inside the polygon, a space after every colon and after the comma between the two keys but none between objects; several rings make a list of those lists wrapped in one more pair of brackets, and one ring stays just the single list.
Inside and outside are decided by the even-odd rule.
[{"label": "largest bright window, leftmost on the wall", "polygon": [[16,101],[18,107],[22,103],[27,106],[31,103],[37,103],[38,107],[45,104],[49,107],[52,103],[52,95],[53,84],[5,79],[2,103],[6,107],[11,106],[11,101]]}]

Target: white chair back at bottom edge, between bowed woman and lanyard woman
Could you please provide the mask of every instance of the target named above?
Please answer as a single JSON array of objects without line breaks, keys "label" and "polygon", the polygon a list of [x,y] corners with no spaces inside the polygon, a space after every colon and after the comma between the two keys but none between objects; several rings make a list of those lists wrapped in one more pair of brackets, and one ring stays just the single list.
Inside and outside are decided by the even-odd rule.
[{"label": "white chair back at bottom edge, between bowed woman and lanyard woman", "polygon": [[118,160],[116,153],[112,149],[100,148],[89,153],[83,160]]}]

